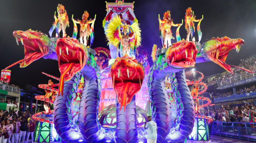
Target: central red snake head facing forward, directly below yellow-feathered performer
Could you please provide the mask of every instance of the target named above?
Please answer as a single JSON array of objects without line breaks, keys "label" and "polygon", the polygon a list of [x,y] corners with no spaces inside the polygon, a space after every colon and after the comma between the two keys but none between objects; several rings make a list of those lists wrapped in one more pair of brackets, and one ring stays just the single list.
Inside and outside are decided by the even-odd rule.
[{"label": "central red snake head facing forward, directly below yellow-feathered performer", "polygon": [[143,65],[134,57],[117,57],[111,66],[111,77],[113,87],[117,94],[119,104],[124,106],[131,102],[133,96],[139,92],[141,84],[145,77]]}]

